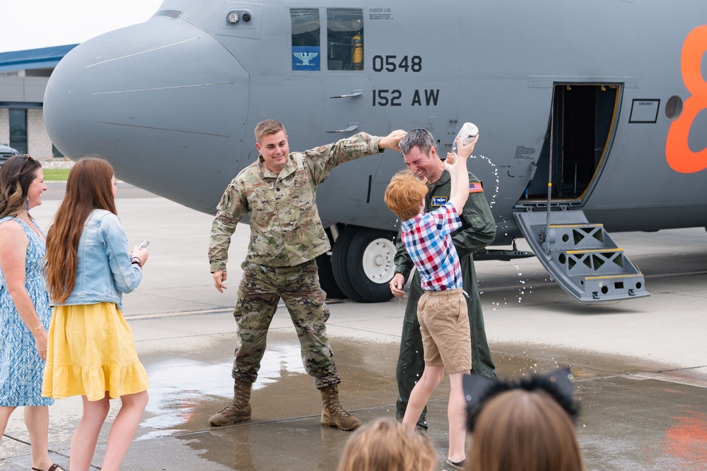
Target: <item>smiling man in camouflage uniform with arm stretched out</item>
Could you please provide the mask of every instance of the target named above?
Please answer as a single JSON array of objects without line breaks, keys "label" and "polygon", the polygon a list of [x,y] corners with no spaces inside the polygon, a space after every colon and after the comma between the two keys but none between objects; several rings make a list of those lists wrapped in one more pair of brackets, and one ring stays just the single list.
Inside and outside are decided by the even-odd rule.
[{"label": "smiling man in camouflage uniform with arm stretched out", "polygon": [[211,425],[250,419],[250,390],[280,298],[297,330],[305,369],[322,393],[322,424],[341,430],[361,425],[339,404],[341,378],[329,347],[325,325],[329,309],[315,261],[330,246],[317,214],[315,191],[337,165],[384,149],[398,150],[404,135],[404,131],[382,138],[358,133],[337,143],[290,153],[284,126],[278,121],[268,119],[255,127],[260,155],[230,182],[211,226],[209,262],[214,285],[223,292],[230,237],[238,221],[250,215],[250,245],[233,310],[239,340],[233,361],[233,401],[211,416]]}]

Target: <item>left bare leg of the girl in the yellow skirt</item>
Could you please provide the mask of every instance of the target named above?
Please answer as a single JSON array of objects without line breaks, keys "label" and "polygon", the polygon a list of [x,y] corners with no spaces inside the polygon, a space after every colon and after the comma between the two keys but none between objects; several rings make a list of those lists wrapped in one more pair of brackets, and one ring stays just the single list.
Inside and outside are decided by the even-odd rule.
[{"label": "left bare leg of the girl in the yellow skirt", "polygon": [[76,426],[74,436],[71,437],[71,456],[69,467],[73,471],[88,471],[90,462],[98,442],[100,427],[103,427],[105,417],[110,410],[110,402],[106,393],[101,400],[88,400],[85,395],[83,400],[83,415]]}]

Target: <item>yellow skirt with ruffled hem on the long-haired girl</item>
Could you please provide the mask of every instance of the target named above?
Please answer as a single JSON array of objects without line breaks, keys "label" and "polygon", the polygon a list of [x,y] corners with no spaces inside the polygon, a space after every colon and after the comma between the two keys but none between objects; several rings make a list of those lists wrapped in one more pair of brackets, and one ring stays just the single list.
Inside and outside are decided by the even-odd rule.
[{"label": "yellow skirt with ruffled hem on the long-haired girl", "polygon": [[132,330],[113,303],[56,306],[49,326],[42,395],[101,400],[149,386]]}]

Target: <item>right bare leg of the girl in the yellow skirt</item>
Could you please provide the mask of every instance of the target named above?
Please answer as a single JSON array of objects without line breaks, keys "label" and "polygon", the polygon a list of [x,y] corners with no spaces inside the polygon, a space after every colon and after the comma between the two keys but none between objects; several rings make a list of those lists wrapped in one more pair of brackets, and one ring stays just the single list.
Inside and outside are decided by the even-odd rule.
[{"label": "right bare leg of the girl in the yellow skirt", "polygon": [[100,468],[103,471],[118,471],[120,469],[123,458],[125,458],[140,424],[142,413],[147,405],[148,393],[142,391],[141,393],[122,395],[120,400],[122,407],[120,407],[120,411],[110,427],[110,434],[108,434],[105,457]]}]

